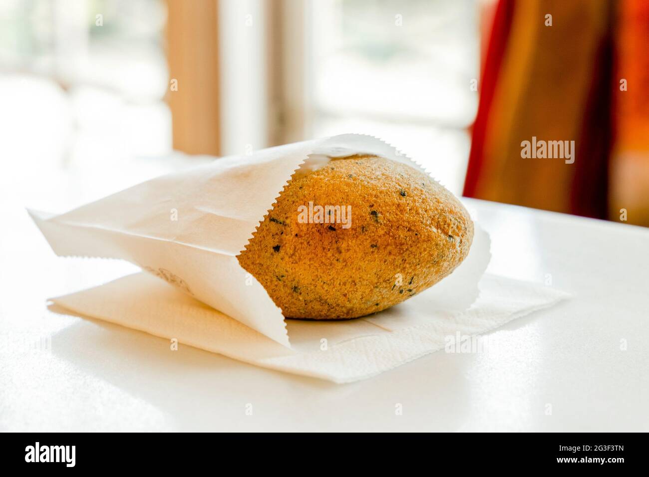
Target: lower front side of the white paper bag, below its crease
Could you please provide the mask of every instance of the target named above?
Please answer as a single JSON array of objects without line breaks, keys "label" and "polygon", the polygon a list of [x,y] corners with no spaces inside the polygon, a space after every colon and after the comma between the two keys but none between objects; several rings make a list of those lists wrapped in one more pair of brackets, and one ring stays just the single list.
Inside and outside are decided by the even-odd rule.
[{"label": "lower front side of the white paper bag, below its crease", "polygon": [[[129,260],[212,308],[290,346],[281,310],[234,256],[96,226],[62,223],[58,217],[43,220],[44,215],[33,213],[32,217],[56,254]],[[247,299],[247,294],[254,299]]]}]

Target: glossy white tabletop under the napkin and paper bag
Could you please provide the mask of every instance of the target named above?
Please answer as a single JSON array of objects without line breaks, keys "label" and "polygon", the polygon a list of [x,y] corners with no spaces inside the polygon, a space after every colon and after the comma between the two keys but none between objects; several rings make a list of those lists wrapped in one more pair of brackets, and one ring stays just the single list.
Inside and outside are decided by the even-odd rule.
[{"label": "glossy white tabletop under the napkin and paper bag", "polygon": [[354,384],[48,311],[47,297],[136,268],[56,257],[24,207],[64,212],[168,169],[0,177],[0,430],[649,430],[649,230],[624,223],[467,200],[491,234],[489,272],[574,297],[493,332],[498,352],[435,352]]}]

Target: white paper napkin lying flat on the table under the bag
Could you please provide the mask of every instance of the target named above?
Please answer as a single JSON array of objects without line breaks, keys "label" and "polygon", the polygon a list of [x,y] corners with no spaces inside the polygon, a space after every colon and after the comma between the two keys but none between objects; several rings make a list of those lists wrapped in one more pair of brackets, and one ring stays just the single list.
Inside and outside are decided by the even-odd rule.
[{"label": "white paper napkin lying flat on the table under the bag", "polygon": [[[567,296],[550,287],[484,275],[480,297],[465,312],[431,310],[431,297],[424,291],[385,312],[356,320],[288,320],[292,349],[147,273],[125,276],[53,301],[81,315],[175,338],[179,343],[239,361],[345,383],[369,378],[437,350],[461,351],[463,343],[471,343],[472,337],[548,308]],[[469,352],[476,349],[469,348]]]}]

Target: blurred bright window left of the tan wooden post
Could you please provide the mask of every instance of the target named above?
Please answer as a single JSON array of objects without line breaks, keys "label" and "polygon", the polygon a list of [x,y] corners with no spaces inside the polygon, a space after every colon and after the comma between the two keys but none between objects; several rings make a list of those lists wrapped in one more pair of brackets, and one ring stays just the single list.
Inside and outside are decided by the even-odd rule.
[{"label": "blurred bright window left of the tan wooden post", "polygon": [[165,16],[163,0],[3,0],[0,125],[16,134],[2,155],[92,164],[169,152]]}]

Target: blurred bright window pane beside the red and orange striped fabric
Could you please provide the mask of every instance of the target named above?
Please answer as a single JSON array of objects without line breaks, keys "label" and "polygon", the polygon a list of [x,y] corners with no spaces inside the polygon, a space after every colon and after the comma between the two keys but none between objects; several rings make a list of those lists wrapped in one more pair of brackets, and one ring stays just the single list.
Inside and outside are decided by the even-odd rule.
[{"label": "blurred bright window pane beside the red and orange striped fabric", "polygon": [[306,6],[306,135],[380,136],[461,193],[478,104],[476,1]]}]

